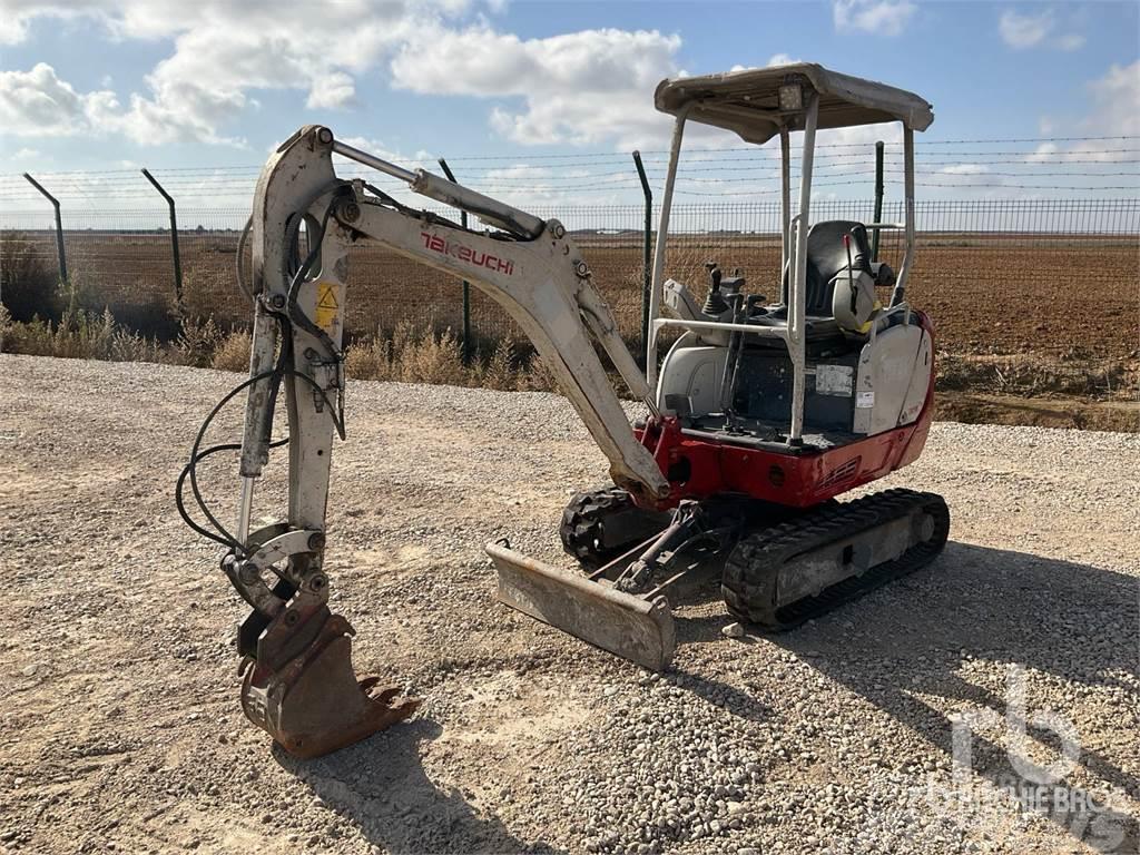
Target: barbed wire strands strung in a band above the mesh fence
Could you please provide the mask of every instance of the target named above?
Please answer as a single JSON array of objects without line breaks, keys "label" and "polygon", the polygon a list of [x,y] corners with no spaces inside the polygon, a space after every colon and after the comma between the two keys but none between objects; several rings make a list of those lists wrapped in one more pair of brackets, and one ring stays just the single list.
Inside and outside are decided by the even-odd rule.
[{"label": "barbed wire strands strung in a band above the mesh fence", "polygon": [[[994,190],[1052,190],[1054,193],[1104,193],[1140,189],[1140,171],[1125,168],[1140,164],[1140,147],[1088,145],[1057,148],[1057,144],[1102,144],[1140,141],[1138,136],[1104,137],[1024,137],[920,141],[915,152],[915,176],[920,187],[960,189],[963,192]],[[1036,144],[1033,150],[995,148],[993,146]],[[988,146],[982,150],[960,147]],[[1042,150],[1045,146],[1051,150]],[[888,185],[897,185],[904,173],[899,142],[886,142],[883,176]],[[951,150],[955,149],[956,150]],[[836,142],[819,146],[813,186],[816,188],[845,187],[873,180],[874,153],[869,142]],[[850,150],[857,149],[857,150]],[[678,170],[677,192],[687,196],[730,197],[740,195],[771,195],[779,187],[758,186],[774,181],[781,164],[773,149],[756,146],[699,149],[682,161]],[[666,174],[665,157],[668,152],[643,152],[643,162],[650,180],[659,182]],[[462,184],[483,189],[514,194],[526,192],[538,196],[556,197],[560,194],[636,194],[640,179],[633,170],[632,158],[625,153],[548,153],[530,155],[529,161],[518,155],[471,155],[451,158],[472,164],[461,170]],[[622,164],[619,166],[619,161]],[[405,161],[408,163],[409,161]],[[410,162],[437,169],[426,158]],[[481,165],[475,165],[481,164]],[[1078,169],[1058,169],[1077,166]],[[954,168],[959,168],[955,171]],[[249,196],[261,173],[258,165],[171,166],[154,169],[160,182],[179,201],[228,199]],[[402,182],[377,176],[367,166],[337,162],[337,172],[345,178],[367,176],[377,182]],[[96,206],[101,202],[165,203],[135,169],[75,170],[36,173],[38,179],[62,202],[78,202]],[[791,178],[798,184],[799,169],[793,160]],[[1135,185],[1121,184],[1118,179],[1134,179]],[[1012,181],[1008,179],[1013,179]],[[1042,179],[1059,179],[1042,181]],[[1065,180],[1068,179],[1068,180]],[[1090,182],[1100,179],[1107,182]],[[1080,181],[1080,182],[1077,182]],[[717,188],[731,188],[717,193]],[[0,174],[0,205],[43,202],[21,173]],[[614,202],[613,204],[619,204]]]}]

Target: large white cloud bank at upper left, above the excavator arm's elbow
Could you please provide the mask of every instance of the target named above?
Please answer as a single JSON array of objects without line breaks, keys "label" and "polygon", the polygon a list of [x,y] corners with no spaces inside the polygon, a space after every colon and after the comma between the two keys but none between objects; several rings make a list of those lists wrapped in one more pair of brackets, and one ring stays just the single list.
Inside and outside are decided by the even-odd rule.
[{"label": "large white cloud bank at upper left, above the excavator arm's elbow", "polygon": [[[311,109],[350,106],[355,75],[375,67],[415,28],[465,8],[465,0],[343,0],[283,14],[270,0],[81,0],[66,7],[55,0],[0,0],[0,42],[25,39],[36,17],[87,17],[117,40],[173,40],[172,54],[147,75],[147,91],[131,93],[125,105],[109,91],[78,96],[92,99],[83,111],[87,128],[152,145],[241,144],[223,129],[256,106],[255,90],[301,90]],[[46,135],[57,127],[40,125]],[[25,125],[27,133],[33,129]]]}]

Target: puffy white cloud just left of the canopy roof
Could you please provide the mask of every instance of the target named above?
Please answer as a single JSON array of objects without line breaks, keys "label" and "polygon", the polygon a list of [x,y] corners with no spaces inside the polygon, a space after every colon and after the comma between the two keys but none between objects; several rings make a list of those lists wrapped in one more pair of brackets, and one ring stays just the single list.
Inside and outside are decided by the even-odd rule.
[{"label": "puffy white cloud just left of the canopy roof", "polygon": [[650,93],[676,74],[677,35],[585,30],[522,40],[487,26],[417,33],[391,63],[394,85],[430,95],[521,99],[498,104],[491,127],[523,144],[660,141],[668,117]]}]

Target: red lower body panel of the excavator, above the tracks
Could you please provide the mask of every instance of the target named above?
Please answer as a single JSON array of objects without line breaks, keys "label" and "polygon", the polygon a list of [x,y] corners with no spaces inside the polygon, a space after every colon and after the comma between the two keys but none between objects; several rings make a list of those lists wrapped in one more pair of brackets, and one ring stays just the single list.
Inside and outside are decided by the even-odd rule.
[{"label": "red lower body panel of the excavator, above the tracks", "polygon": [[[929,318],[917,314],[933,339]],[[665,507],[675,506],[682,499],[702,499],[726,492],[791,507],[812,507],[918,459],[933,417],[931,363],[930,386],[913,423],[826,451],[791,455],[686,437],[675,416],[651,418],[644,429],[634,432],[653,453],[666,477],[670,471],[686,474],[685,480],[671,481],[673,492],[662,503]]]}]

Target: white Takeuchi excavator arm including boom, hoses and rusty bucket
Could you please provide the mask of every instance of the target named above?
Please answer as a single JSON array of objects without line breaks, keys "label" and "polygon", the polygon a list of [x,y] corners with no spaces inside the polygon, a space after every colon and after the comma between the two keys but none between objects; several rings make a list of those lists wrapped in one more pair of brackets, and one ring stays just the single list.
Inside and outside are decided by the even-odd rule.
[{"label": "white Takeuchi excavator arm including boom, hoses and rusty bucket", "polygon": [[[413,190],[465,210],[495,230],[469,230],[409,209],[361,180],[342,180],[334,152],[402,178]],[[653,456],[635,438],[591,334],[633,394],[652,409],[651,390],[560,222],[381,161],[334,140],[327,128],[302,128],[270,156],[254,197],[250,377],[228,396],[246,391],[236,530],[227,531],[201,502],[195,467],[211,453],[198,447],[204,429],[179,482],[180,507],[188,478],[215,523],[207,536],[227,546],[222,569],[253,609],[238,633],[245,712],[302,757],[363,739],[406,718],[417,705],[398,700],[394,689],[376,691],[374,679],[356,678],[352,628],[329,611],[324,571],[332,446],[334,434],[344,435],[349,251],[361,238],[466,279],[498,302],[609,458],[614,483],[650,505],[669,490]],[[285,441],[271,437],[283,391],[288,518],[251,530],[254,484],[270,449]]]}]

